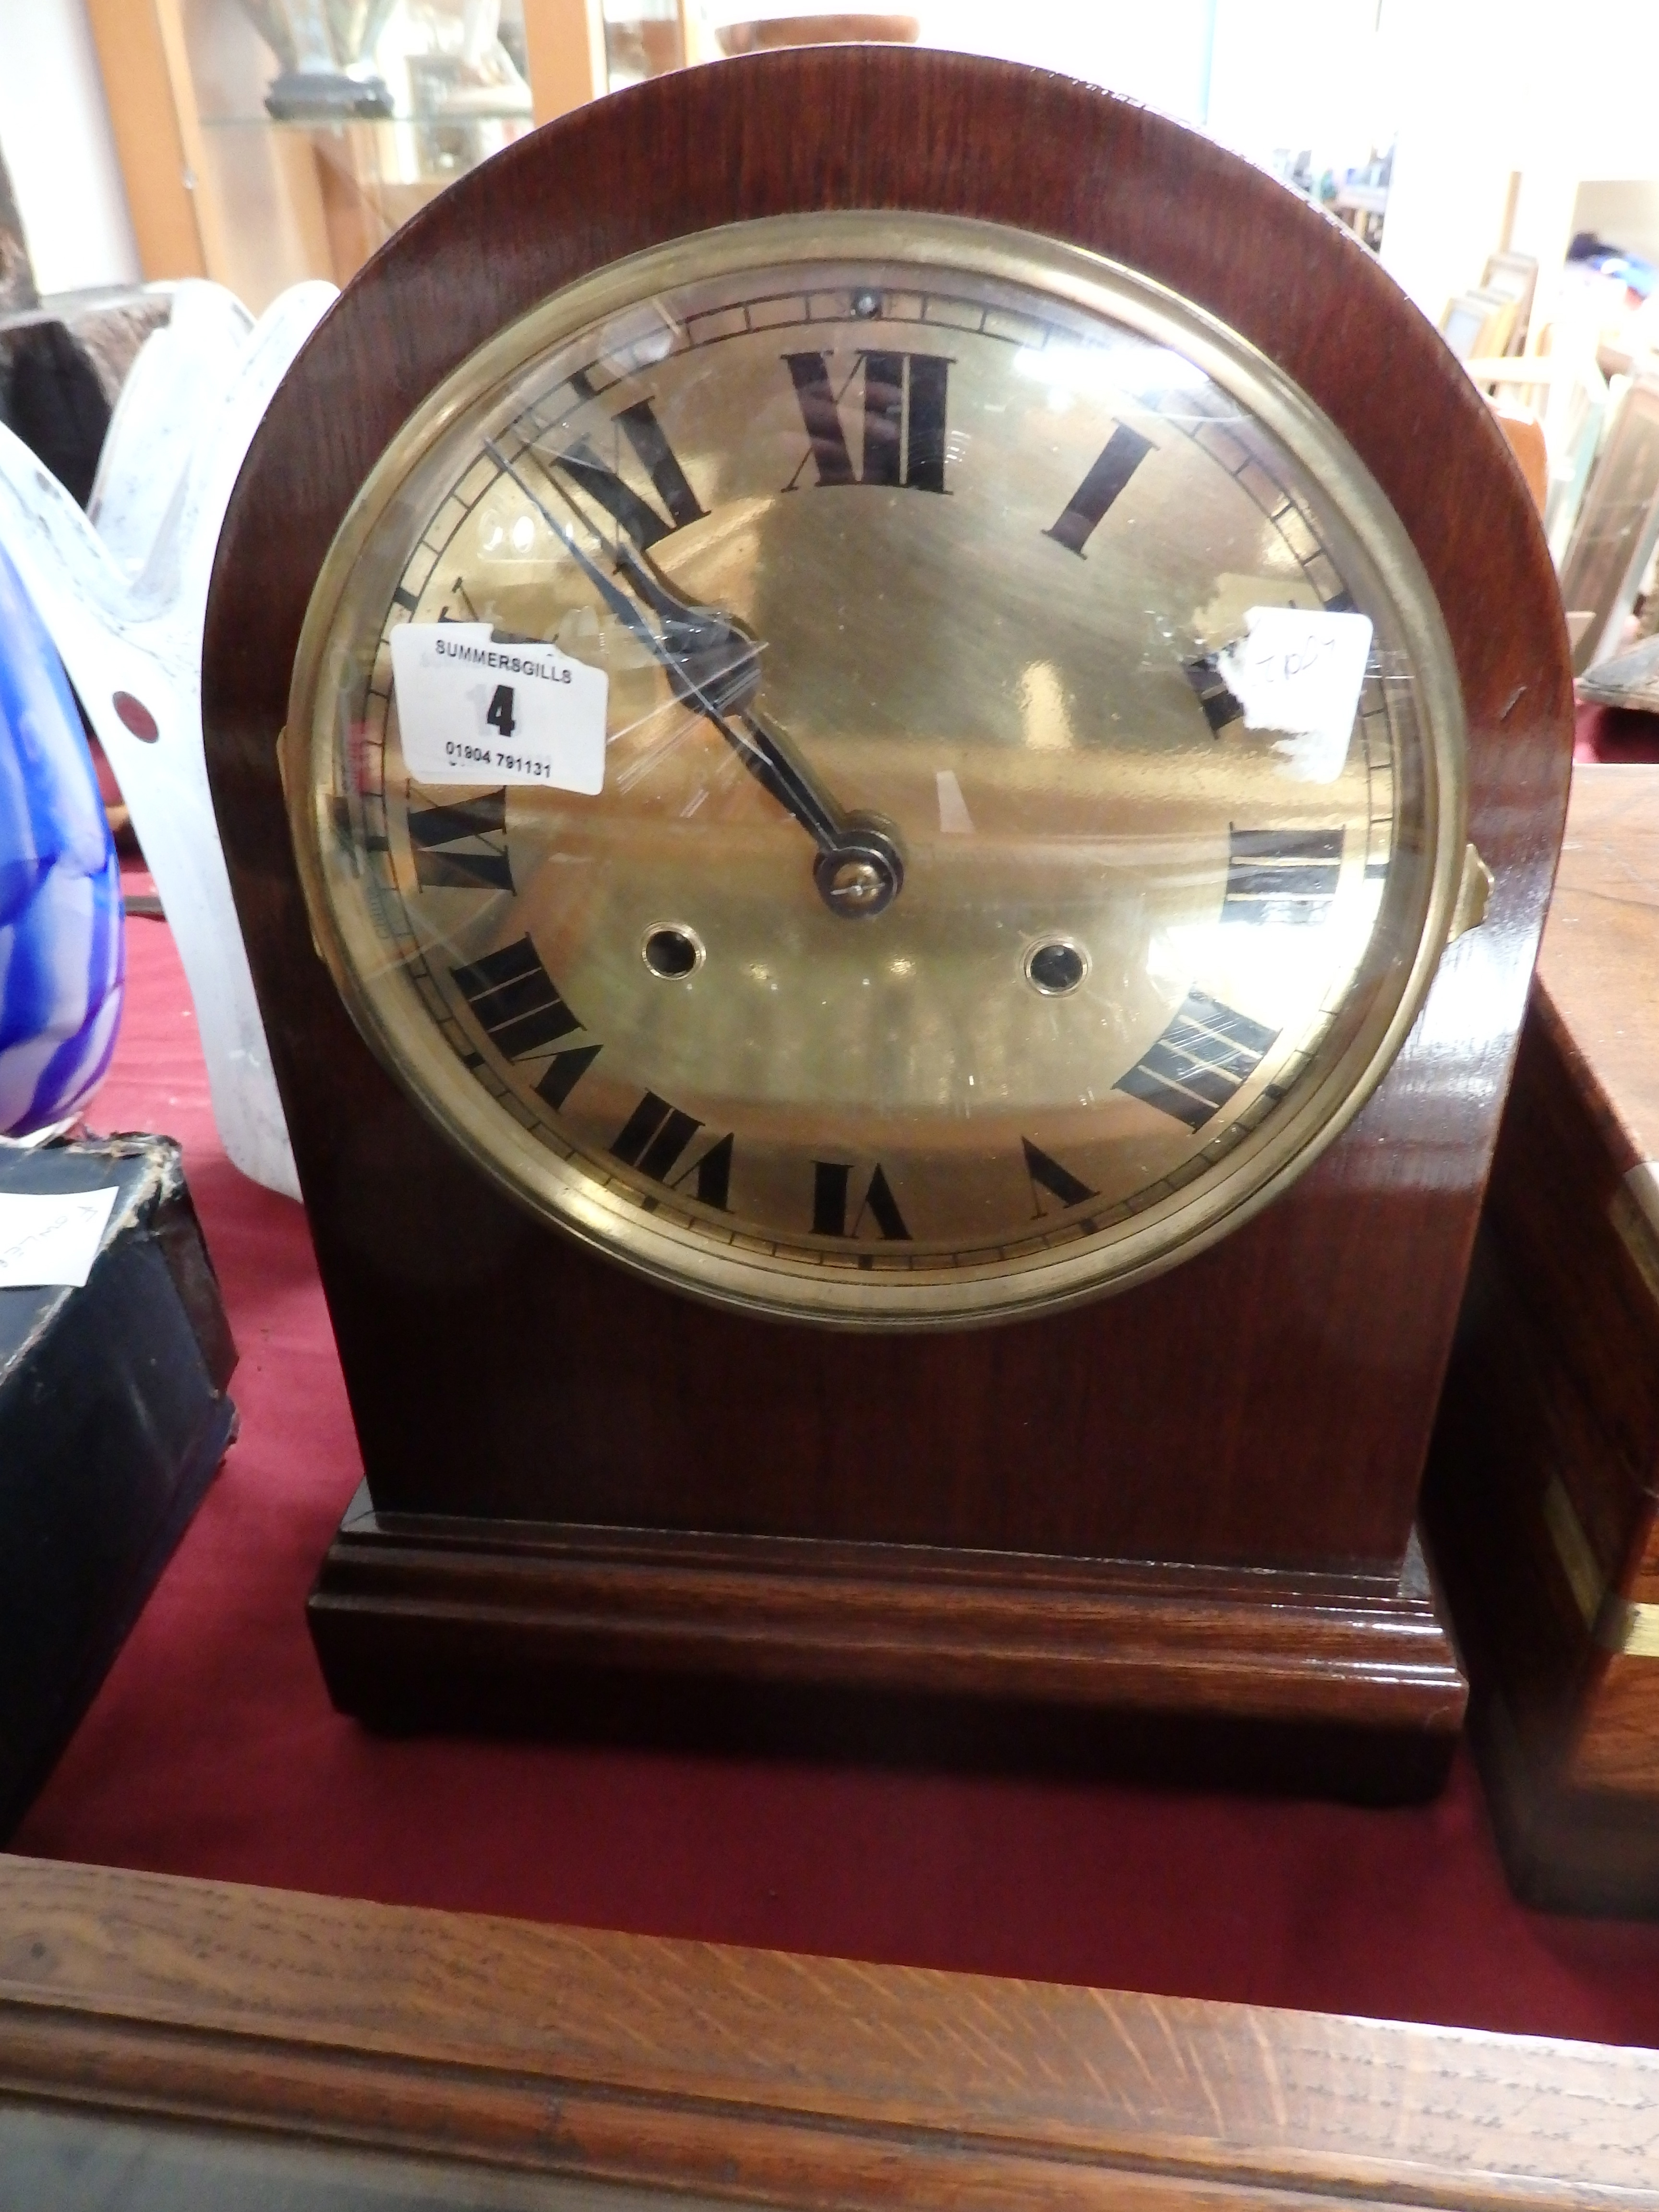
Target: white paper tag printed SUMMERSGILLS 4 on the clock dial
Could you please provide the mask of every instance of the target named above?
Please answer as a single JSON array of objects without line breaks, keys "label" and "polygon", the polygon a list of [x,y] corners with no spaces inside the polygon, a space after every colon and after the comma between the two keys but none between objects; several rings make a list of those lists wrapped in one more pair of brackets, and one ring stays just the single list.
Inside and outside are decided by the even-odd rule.
[{"label": "white paper tag printed SUMMERSGILLS 4 on the clock dial", "polygon": [[611,681],[557,646],[504,646],[487,622],[392,633],[403,765],[416,783],[604,787]]}]

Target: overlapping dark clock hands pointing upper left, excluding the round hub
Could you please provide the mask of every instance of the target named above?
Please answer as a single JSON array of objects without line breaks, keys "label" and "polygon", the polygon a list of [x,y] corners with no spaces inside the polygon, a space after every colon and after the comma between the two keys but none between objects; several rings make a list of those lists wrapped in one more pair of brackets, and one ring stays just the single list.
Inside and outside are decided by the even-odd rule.
[{"label": "overlapping dark clock hands pointing upper left, excluding the round hub", "polygon": [[[684,599],[655,562],[626,549],[619,553],[619,564],[633,584],[635,597],[630,597],[604,573],[571,526],[553,513],[535,487],[526,482],[522,471],[491,440],[484,440],[484,451],[518,484],[611,613],[668,670],[679,697],[690,701],[719,730],[757,783],[801,823],[821,854],[841,854],[849,825],[845,807],[810,774],[794,748],[754,712],[739,708],[737,714],[728,714],[732,695],[745,699],[754,692],[761,655],[757,639],[748,637],[734,622],[728,622],[712,608]],[[564,498],[562,491],[560,498]],[[568,504],[584,526],[591,529],[575,502]],[[646,606],[659,615],[664,633],[653,628]],[[681,633],[684,644],[670,644],[666,635],[670,628]]]}]

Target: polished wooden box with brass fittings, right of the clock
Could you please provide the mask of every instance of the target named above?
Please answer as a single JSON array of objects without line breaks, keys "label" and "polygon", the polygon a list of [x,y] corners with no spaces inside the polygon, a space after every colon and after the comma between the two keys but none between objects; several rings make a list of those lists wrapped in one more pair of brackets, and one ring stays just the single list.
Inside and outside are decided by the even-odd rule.
[{"label": "polished wooden box with brass fittings, right of the clock", "polygon": [[1573,776],[1429,1513],[1517,1889],[1659,1911],[1659,768]]}]

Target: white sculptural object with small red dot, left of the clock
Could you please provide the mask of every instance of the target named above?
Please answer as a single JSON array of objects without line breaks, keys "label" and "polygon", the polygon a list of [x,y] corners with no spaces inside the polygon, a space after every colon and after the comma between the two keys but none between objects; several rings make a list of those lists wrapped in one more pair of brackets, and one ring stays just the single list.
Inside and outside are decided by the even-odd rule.
[{"label": "white sculptural object with small red dot, left of the clock", "polygon": [[190,984],[219,1137],[243,1175],[288,1197],[299,1177],[208,794],[201,626],[248,445],[334,296],[299,283],[254,323],[219,285],[177,285],[173,321],[115,407],[88,515],[0,425],[0,542],[133,814]]}]

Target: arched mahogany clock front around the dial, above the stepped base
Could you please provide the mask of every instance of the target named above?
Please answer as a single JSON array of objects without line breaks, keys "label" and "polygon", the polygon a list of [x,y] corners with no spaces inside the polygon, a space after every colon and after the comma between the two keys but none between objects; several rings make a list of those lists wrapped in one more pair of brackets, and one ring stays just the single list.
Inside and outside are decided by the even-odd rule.
[{"label": "arched mahogany clock front around the dial, above the stepped base", "polygon": [[[301,619],[405,416],[562,283],[668,237],[814,208],[1022,226],[1225,319],[1376,476],[1462,677],[1471,836],[1495,891],[1380,1091],[1225,1243],[1018,1327],[894,1338],[745,1321],[526,1219],[358,1040],[288,847],[274,741]],[[1398,1586],[1559,838],[1571,686],[1504,440],[1340,226],[1141,108],[967,55],[754,55],[597,102],[422,210],[305,347],[226,520],[204,717],[376,1506]],[[978,1672],[1000,1686],[995,1650]],[[1225,1710],[1223,1677],[1210,1688]]]}]

